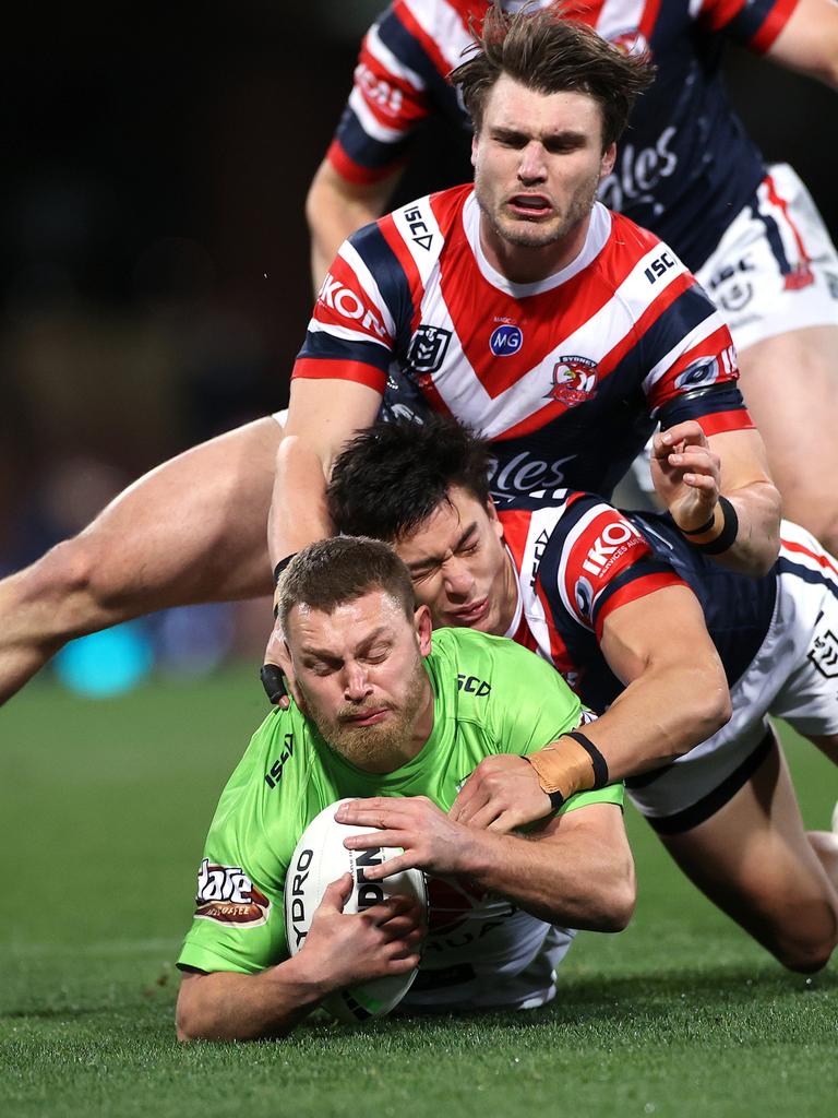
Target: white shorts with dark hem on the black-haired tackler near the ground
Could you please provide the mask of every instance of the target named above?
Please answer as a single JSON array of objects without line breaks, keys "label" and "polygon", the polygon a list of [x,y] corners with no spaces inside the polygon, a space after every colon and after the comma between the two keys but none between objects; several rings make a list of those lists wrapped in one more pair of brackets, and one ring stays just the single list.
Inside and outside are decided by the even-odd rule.
[{"label": "white shorts with dark hem on the black-haired tackler near the ground", "polygon": [[666,768],[628,780],[656,831],[710,818],[761,764],[769,716],[803,735],[838,733],[838,560],[783,521],[777,601],[760,651],[731,688],[730,722]]}]

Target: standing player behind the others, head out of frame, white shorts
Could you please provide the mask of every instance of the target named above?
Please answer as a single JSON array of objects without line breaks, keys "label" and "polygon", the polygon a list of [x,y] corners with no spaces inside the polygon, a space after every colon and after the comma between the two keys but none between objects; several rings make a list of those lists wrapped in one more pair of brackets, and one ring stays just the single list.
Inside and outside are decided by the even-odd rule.
[{"label": "standing player behind the others, head out of frame, white shorts", "polygon": [[[315,286],[341,241],[383,211],[417,126],[429,116],[468,126],[445,78],[473,44],[472,21],[491,7],[394,0],[364,37],[352,94],[308,196]],[[768,168],[747,138],[721,68],[732,40],[838,86],[838,6],[566,0],[560,13],[655,63],[655,83],[631,113],[599,198],[669,244],[717,304],[787,515],[838,553],[838,254],[792,169]]]}]

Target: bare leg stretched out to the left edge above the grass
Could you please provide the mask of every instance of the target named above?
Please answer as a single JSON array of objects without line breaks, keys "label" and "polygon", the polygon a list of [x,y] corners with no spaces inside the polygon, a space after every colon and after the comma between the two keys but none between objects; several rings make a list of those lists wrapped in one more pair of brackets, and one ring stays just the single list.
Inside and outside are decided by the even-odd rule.
[{"label": "bare leg stretched out to the left edge above the grass", "polygon": [[269,594],[280,436],[274,419],[258,419],[184,452],[3,579],[0,703],[74,637],[170,606]]}]

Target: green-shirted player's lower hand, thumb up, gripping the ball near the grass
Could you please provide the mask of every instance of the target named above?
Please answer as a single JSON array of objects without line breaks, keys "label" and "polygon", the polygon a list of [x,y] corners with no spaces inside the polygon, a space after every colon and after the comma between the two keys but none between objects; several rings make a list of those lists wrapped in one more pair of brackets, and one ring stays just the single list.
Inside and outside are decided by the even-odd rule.
[{"label": "green-shirted player's lower hand, thumb up, gripping the ball near the grass", "polygon": [[363,912],[344,912],[352,874],[333,881],[312,920],[298,959],[328,994],[355,983],[407,974],[419,966],[425,913],[409,897],[389,897]]}]

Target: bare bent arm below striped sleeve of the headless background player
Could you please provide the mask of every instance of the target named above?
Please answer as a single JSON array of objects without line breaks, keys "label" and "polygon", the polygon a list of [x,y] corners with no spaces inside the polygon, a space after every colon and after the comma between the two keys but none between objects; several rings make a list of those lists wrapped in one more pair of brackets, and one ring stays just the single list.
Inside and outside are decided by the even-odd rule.
[{"label": "bare bent arm below striped sleeve of the headless background player", "polygon": [[323,160],[305,200],[315,292],[346,237],[384,212],[400,176],[401,171],[397,171],[379,182],[350,182],[327,159]]}]

